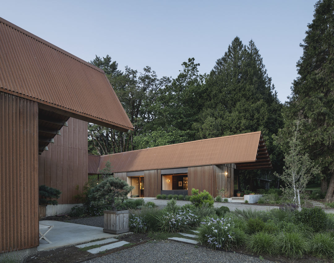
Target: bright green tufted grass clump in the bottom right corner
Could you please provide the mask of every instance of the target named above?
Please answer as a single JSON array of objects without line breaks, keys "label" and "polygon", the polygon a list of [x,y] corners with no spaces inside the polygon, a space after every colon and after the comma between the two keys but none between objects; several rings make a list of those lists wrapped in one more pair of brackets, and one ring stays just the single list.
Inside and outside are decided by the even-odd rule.
[{"label": "bright green tufted grass clump in the bottom right corner", "polygon": [[313,256],[317,258],[334,257],[334,240],[329,233],[316,233],[310,243]]}]

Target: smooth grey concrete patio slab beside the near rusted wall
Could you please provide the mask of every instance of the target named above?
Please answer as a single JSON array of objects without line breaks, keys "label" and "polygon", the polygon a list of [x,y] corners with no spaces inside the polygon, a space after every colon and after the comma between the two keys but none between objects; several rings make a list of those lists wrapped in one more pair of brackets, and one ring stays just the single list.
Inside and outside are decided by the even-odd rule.
[{"label": "smooth grey concrete patio slab beside the near rusted wall", "polygon": [[103,232],[102,227],[92,227],[73,223],[65,223],[53,220],[41,220],[41,224],[54,226],[47,233],[46,237],[52,242],[47,243],[45,240],[39,241],[38,251],[49,250],[58,247],[77,245],[80,243],[90,242],[102,238],[112,238],[119,235],[108,234]]}]

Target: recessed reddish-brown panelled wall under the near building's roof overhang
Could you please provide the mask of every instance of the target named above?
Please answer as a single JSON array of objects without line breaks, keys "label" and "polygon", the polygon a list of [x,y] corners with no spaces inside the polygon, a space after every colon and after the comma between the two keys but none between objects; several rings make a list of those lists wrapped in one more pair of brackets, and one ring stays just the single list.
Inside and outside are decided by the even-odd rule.
[{"label": "recessed reddish-brown panelled wall under the near building's roof overhang", "polygon": [[77,203],[73,199],[78,194],[75,190],[88,180],[88,140],[87,122],[69,118],[68,127],[63,126],[61,135],[54,137],[54,144],[49,144],[49,151],[44,151],[38,158],[39,185],[47,185],[61,191],[58,204]]}]

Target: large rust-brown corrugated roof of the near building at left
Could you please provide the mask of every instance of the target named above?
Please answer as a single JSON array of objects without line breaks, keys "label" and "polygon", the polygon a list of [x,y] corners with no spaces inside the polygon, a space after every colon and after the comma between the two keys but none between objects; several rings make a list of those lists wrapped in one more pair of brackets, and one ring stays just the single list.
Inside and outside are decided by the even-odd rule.
[{"label": "large rust-brown corrugated roof of the near building at left", "polygon": [[0,91],[64,115],[124,131],[133,129],[103,70],[3,18]]}]

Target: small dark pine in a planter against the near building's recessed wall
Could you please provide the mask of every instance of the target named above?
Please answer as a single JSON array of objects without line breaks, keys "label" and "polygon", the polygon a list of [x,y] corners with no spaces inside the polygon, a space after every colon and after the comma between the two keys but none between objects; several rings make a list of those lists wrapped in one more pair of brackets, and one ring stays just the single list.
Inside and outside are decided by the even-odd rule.
[{"label": "small dark pine in a planter against the near building's recessed wall", "polygon": [[48,187],[46,185],[39,186],[39,206],[38,206],[38,218],[46,217],[46,206],[57,205],[57,199],[60,197],[61,192],[58,189]]}]

